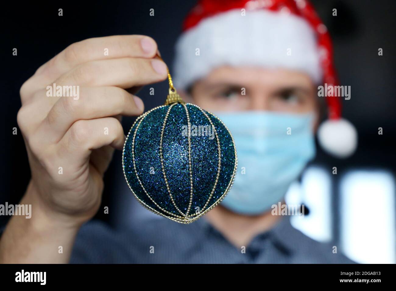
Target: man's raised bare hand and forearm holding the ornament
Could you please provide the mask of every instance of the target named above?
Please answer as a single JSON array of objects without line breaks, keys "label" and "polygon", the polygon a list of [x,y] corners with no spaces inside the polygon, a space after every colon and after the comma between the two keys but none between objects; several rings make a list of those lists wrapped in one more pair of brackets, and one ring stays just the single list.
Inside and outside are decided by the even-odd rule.
[{"label": "man's raised bare hand and forearm holding the ornament", "polygon": [[[21,203],[32,204],[32,219],[11,219],[0,241],[0,261],[9,261],[4,259],[12,257],[7,252],[17,256],[13,252],[18,247],[16,235],[20,236],[17,229],[25,227],[26,235],[45,237],[51,227],[57,229],[53,236],[61,228],[67,233],[59,238],[72,245],[81,224],[95,215],[103,174],[114,148],[124,144],[121,115],[143,113],[141,99],[126,89],[166,79],[165,63],[153,59],[156,52],[157,45],[148,36],[91,38],[67,47],[23,84],[17,122],[32,179]],[[46,88],[53,84],[79,86],[78,99],[48,97]],[[34,242],[32,237],[25,241],[32,253],[39,251]],[[57,252],[57,247],[48,252]],[[27,260],[16,261],[37,257],[32,253],[25,252]]]}]

